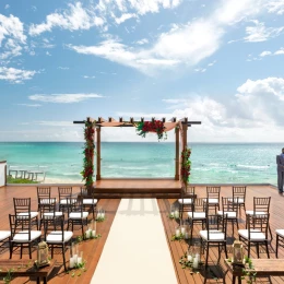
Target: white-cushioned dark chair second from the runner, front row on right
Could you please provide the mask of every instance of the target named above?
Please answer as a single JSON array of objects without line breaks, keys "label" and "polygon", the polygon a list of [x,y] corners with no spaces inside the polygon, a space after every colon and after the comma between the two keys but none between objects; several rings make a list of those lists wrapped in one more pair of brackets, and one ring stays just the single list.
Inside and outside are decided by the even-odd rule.
[{"label": "white-cushioned dark chair second from the runner, front row on right", "polygon": [[250,257],[250,247],[251,245],[257,246],[257,255],[259,258],[259,245],[264,245],[267,248],[268,258],[269,256],[269,216],[270,214],[255,214],[247,215],[247,229],[239,229],[239,240],[247,244],[248,247],[248,257]]}]

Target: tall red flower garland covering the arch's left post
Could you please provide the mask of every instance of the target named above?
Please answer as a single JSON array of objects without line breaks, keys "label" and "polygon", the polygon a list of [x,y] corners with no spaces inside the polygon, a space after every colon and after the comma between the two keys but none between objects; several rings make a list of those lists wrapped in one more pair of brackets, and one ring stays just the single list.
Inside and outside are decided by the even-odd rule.
[{"label": "tall red flower garland covering the arch's left post", "polygon": [[95,153],[95,143],[94,143],[94,123],[85,121],[85,128],[84,128],[84,138],[85,138],[85,144],[84,144],[84,159],[83,159],[83,170],[81,171],[82,180],[85,181],[86,187],[93,186],[93,175],[94,175],[94,153]]}]

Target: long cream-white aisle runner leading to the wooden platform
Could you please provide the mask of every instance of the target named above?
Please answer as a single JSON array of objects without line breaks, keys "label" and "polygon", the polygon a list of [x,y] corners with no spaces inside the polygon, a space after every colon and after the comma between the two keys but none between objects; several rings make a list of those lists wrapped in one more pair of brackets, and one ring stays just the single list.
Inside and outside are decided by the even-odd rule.
[{"label": "long cream-white aisle runner leading to the wooden platform", "polygon": [[176,284],[156,199],[122,199],[93,284]]}]

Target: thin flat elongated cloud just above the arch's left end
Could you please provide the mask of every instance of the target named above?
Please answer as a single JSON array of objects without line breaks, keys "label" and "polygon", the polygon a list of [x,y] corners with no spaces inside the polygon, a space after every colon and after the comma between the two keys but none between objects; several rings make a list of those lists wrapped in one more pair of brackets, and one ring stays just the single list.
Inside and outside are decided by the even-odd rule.
[{"label": "thin flat elongated cloud just above the arch's left end", "polygon": [[98,94],[51,94],[51,95],[36,94],[36,95],[28,96],[31,100],[38,100],[44,103],[57,103],[57,104],[73,104],[73,103],[87,100],[90,98],[99,98],[99,97],[103,96]]}]

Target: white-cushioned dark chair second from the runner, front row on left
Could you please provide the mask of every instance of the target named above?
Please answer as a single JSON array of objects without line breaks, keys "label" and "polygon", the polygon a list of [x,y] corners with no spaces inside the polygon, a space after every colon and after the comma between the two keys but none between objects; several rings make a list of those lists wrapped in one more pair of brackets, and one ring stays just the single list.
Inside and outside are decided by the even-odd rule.
[{"label": "white-cushioned dark chair second from the runner, front row on left", "polygon": [[29,259],[32,259],[32,246],[40,241],[42,232],[32,230],[31,213],[19,218],[19,215],[9,214],[10,221],[10,259],[14,252],[14,247],[21,248],[21,259],[23,256],[23,248],[28,248]]}]

